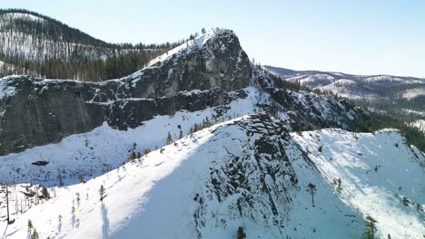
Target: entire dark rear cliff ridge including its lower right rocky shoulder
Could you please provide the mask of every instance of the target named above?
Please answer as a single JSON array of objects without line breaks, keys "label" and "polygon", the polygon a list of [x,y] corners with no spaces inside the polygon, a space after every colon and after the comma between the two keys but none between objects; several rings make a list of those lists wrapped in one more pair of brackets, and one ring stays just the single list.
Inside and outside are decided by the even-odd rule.
[{"label": "entire dark rear cliff ridge including its lower right rocky shoulder", "polygon": [[[224,106],[245,98],[250,85],[260,94],[259,101],[251,103],[283,119],[292,130],[351,129],[350,122],[364,116],[344,101],[279,89],[251,64],[230,30],[205,33],[179,49],[118,80],[1,79],[0,156],[56,143],[105,121],[114,129],[126,130],[177,110]],[[221,115],[210,119],[217,117]]]}]

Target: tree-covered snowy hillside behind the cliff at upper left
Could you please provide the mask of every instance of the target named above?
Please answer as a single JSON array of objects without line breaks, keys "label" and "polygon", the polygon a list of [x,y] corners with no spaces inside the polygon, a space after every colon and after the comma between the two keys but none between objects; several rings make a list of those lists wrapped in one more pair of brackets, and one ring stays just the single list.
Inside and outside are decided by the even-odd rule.
[{"label": "tree-covered snowy hillside behind the cliff at upper left", "polygon": [[31,74],[80,81],[121,78],[184,42],[105,43],[51,17],[5,9],[0,10],[0,77]]}]

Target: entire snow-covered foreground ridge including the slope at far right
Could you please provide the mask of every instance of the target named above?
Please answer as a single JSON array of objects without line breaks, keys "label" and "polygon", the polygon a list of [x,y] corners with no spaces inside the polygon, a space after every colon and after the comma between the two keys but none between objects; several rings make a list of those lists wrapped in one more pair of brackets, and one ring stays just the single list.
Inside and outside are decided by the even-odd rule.
[{"label": "entire snow-covered foreground ridge including the slope at far right", "polygon": [[[239,227],[247,238],[360,238],[371,215],[380,238],[420,238],[424,166],[397,130],[289,134],[281,120],[257,114],[54,187],[52,199],[0,231],[23,238],[31,220],[41,238],[234,238]],[[13,198],[25,188],[15,186]]]}]

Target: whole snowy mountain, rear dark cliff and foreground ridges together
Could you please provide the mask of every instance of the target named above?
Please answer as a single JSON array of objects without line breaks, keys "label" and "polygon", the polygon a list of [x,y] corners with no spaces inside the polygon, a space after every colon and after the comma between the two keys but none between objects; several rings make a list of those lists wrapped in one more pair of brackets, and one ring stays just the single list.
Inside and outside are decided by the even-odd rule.
[{"label": "whole snowy mountain, rear dark cliff and foreground ridges together", "polygon": [[371,216],[381,238],[420,238],[425,155],[396,129],[345,131],[369,117],[279,87],[224,29],[122,79],[5,77],[0,182],[15,222],[0,186],[0,234],[359,238]]}]

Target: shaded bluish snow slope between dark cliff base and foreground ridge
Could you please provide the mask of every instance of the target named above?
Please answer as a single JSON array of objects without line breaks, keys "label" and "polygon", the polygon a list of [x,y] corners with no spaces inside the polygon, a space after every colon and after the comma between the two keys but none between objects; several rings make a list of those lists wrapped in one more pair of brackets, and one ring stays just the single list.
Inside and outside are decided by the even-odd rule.
[{"label": "shaded bluish snow slope between dark cliff base and foreground ridge", "polygon": [[[0,181],[59,185],[58,169],[62,171],[65,185],[79,182],[80,175],[86,178],[100,175],[109,170],[108,168],[120,166],[133,149],[143,152],[145,148],[162,147],[168,132],[172,134],[173,139],[178,139],[180,130],[183,135],[187,135],[194,124],[201,125],[203,120],[214,121],[218,118],[217,120],[221,121],[246,115],[259,109],[255,103],[268,100],[262,98],[260,92],[253,87],[245,91],[248,97],[233,100],[224,107],[194,112],[177,111],[173,116],[156,116],[143,122],[142,126],[128,130],[113,129],[104,123],[90,132],[66,137],[57,144],[2,156]],[[223,111],[224,114],[218,116],[217,110]],[[48,161],[49,164],[43,167],[32,165],[35,161]]]}]

